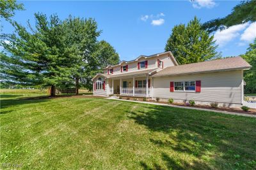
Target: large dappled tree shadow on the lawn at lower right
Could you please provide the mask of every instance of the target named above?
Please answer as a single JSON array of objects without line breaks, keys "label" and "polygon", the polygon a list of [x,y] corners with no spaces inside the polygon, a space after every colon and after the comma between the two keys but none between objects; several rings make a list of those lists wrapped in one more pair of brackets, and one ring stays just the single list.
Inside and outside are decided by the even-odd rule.
[{"label": "large dappled tree shadow on the lawn at lower right", "polygon": [[[147,110],[137,110],[131,114],[130,118],[137,124],[168,136],[165,139],[155,136],[148,139],[162,148],[164,152],[160,157],[168,169],[255,167],[250,164],[255,159],[253,154],[256,153],[255,148],[253,149],[256,145],[256,134],[251,133],[255,128],[254,120],[247,121],[251,124],[244,123],[244,129],[234,128],[238,122],[243,123],[246,118],[166,106],[147,106]],[[180,156],[168,155],[168,152],[170,154],[173,151]],[[236,159],[234,155],[239,155],[240,159]],[[158,164],[153,164],[153,167],[148,164],[140,162],[143,169],[166,169]]]}]

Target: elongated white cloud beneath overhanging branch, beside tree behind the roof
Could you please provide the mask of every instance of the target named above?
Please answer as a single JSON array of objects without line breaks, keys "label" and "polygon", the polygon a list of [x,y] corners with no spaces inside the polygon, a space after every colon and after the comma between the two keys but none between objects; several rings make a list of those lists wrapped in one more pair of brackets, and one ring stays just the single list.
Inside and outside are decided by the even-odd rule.
[{"label": "elongated white cloud beneath overhanging branch, beside tree behind the roof", "polygon": [[228,29],[224,29],[223,31],[216,31],[214,34],[214,40],[216,40],[216,44],[223,46],[231,41],[232,39],[239,36],[239,31],[242,31],[247,27],[248,24],[239,24],[229,27]]}]

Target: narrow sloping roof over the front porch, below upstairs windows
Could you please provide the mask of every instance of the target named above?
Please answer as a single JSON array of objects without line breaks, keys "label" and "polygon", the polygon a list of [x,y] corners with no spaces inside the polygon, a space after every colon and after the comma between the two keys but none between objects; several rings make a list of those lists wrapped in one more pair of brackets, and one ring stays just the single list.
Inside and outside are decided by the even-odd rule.
[{"label": "narrow sloping roof over the front porch, below upstairs windows", "polygon": [[145,76],[154,73],[157,69],[143,69],[141,71],[132,71],[128,73],[118,73],[118,74],[103,74],[106,78],[118,78],[127,76]]}]

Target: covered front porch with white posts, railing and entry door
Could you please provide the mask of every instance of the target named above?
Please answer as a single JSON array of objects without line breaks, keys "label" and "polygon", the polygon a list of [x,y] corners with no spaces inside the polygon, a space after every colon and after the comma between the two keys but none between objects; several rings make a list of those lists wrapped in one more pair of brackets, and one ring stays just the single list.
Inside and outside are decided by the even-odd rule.
[{"label": "covered front porch with white posts, railing and entry door", "polygon": [[109,78],[106,87],[108,95],[151,97],[152,94],[152,81],[148,75]]}]

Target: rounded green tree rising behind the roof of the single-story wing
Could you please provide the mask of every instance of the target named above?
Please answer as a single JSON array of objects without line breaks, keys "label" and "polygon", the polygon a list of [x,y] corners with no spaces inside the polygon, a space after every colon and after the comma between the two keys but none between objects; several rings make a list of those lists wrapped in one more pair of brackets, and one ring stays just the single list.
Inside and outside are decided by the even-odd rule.
[{"label": "rounded green tree rising behind the roof of the single-story wing", "polygon": [[168,39],[165,51],[171,51],[179,64],[189,64],[216,59],[220,53],[207,31],[202,29],[200,20],[194,18],[188,25],[175,25]]}]

